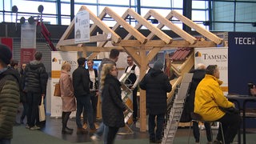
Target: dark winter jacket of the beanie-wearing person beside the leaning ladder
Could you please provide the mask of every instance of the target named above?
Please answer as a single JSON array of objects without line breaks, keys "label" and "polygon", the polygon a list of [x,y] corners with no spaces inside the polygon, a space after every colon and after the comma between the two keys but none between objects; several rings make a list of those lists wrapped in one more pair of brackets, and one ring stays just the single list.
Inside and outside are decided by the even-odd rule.
[{"label": "dark winter jacket of the beanie-wearing person beside the leaning ladder", "polygon": [[172,86],[162,70],[151,69],[139,83],[142,90],[146,90],[146,110],[149,114],[166,114],[167,92]]}]

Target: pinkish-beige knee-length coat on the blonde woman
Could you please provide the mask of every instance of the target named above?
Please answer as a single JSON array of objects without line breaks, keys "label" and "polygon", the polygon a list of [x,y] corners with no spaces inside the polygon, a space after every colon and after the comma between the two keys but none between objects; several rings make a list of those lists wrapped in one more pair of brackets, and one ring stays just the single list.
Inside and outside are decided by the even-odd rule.
[{"label": "pinkish-beige knee-length coat on the blonde woman", "polygon": [[76,110],[73,84],[70,78],[70,74],[68,74],[66,70],[61,71],[59,84],[61,87],[62,111],[71,112]]}]

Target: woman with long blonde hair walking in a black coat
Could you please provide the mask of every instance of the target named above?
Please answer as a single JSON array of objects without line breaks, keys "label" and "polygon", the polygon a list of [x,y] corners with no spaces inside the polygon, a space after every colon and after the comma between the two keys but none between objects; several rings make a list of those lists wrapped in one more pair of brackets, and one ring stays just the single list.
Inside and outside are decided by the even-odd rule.
[{"label": "woman with long blonde hair walking in a black coat", "polygon": [[102,120],[109,126],[107,143],[114,143],[120,127],[125,126],[124,114],[126,105],[122,102],[121,83],[118,81],[118,70],[114,64],[104,64],[101,75]]}]

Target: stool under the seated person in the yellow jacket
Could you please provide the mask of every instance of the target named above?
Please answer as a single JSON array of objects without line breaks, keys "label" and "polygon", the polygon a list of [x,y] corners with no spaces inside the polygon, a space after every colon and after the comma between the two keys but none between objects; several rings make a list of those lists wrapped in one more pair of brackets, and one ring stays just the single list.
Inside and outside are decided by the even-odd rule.
[{"label": "stool under the seated person in the yellow jacket", "polygon": [[[205,123],[206,121],[204,121],[202,119],[202,116],[200,114],[197,114],[197,113],[194,113],[192,112],[191,113],[191,118],[192,118],[192,121],[190,122],[190,130],[191,130],[191,126],[192,126],[192,122],[202,122],[202,123]],[[207,121],[209,122],[209,121]],[[222,129],[222,122],[219,122],[219,126],[221,126],[221,130],[222,130],[222,138],[223,138],[223,144],[225,144],[225,138],[224,138],[224,133],[223,133],[223,129]],[[188,143],[190,143],[190,130],[189,130],[189,140],[188,140]],[[200,128],[200,140],[201,140],[201,128]],[[210,129],[210,134],[211,134],[211,139],[213,140],[213,133],[212,133],[212,130]]]}]

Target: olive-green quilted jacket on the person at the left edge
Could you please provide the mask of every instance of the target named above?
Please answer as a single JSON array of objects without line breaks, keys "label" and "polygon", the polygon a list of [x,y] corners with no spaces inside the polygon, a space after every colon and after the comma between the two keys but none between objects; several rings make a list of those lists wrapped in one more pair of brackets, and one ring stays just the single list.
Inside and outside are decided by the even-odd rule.
[{"label": "olive-green quilted jacket on the person at the left edge", "polygon": [[18,71],[8,68],[0,74],[0,139],[13,138],[19,98]]}]

